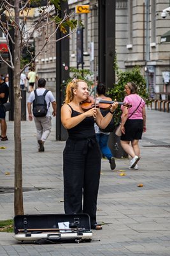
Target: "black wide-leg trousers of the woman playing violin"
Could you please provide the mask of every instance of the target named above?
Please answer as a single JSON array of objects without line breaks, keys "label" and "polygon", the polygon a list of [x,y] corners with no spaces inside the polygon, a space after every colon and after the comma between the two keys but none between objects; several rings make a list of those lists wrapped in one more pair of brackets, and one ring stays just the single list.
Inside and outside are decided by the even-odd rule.
[{"label": "black wide-leg trousers of the woman playing violin", "polygon": [[101,151],[96,138],[68,139],[63,152],[63,168],[65,213],[87,213],[91,224],[96,223],[101,173]]}]

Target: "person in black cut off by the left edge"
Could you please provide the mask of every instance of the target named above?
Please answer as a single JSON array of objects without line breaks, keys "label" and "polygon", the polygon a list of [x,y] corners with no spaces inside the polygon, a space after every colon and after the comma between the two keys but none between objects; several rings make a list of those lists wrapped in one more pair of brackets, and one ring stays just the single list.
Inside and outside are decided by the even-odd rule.
[{"label": "person in black cut off by the left edge", "polygon": [[8,101],[8,96],[9,96],[9,88],[8,85],[4,82],[3,77],[0,76],[0,123],[1,123],[1,140],[8,140],[6,136],[6,130],[7,130],[7,125],[6,125],[6,120],[5,116],[6,113],[3,108],[3,104]]}]

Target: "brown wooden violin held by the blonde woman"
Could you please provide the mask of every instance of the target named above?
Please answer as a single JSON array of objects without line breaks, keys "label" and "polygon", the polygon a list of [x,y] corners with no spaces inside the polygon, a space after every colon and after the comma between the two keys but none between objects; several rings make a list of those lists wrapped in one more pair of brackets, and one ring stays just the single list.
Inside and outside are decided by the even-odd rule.
[{"label": "brown wooden violin held by the blonde woman", "polygon": [[[96,102],[95,102],[94,97],[89,96],[89,97],[87,97],[87,100],[80,103],[80,106],[83,109],[83,111],[87,111],[87,110],[89,110],[91,108],[95,108],[95,107],[107,110],[107,109],[110,109],[111,104],[115,103],[115,102],[117,102],[117,101],[113,101],[110,97],[104,97],[103,100],[101,99],[98,102],[96,100]],[[123,105],[127,108],[132,108],[131,104],[128,104],[125,102],[118,102],[118,104]]]}]

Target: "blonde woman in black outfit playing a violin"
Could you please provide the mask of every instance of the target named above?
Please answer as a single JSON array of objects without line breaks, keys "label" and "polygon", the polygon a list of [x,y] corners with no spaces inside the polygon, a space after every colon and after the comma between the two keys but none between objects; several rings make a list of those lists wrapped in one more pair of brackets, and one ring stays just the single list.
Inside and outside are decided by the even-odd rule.
[{"label": "blonde woman in black outfit playing a violin", "polygon": [[66,214],[89,214],[91,228],[99,230],[102,226],[97,224],[96,211],[101,151],[94,122],[104,129],[110,123],[118,103],[111,104],[110,112],[103,117],[97,108],[83,111],[80,103],[88,96],[85,81],[73,79],[67,84],[65,104],[61,108],[61,122],[69,135],[63,152],[64,210]]}]

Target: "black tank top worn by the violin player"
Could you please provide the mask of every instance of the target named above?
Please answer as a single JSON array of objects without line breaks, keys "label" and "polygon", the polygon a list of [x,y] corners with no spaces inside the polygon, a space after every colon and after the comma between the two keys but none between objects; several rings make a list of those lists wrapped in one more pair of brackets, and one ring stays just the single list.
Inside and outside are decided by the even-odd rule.
[{"label": "black tank top worn by the violin player", "polygon": [[[71,108],[71,106],[68,104],[68,106]],[[81,115],[80,112],[75,111],[73,108],[71,108],[71,117]],[[76,138],[76,139],[85,139],[85,138],[92,138],[95,136],[94,131],[94,117],[86,117],[83,121],[81,121],[80,124],[74,126],[71,129],[67,129],[67,132],[69,134],[69,138]]]}]

